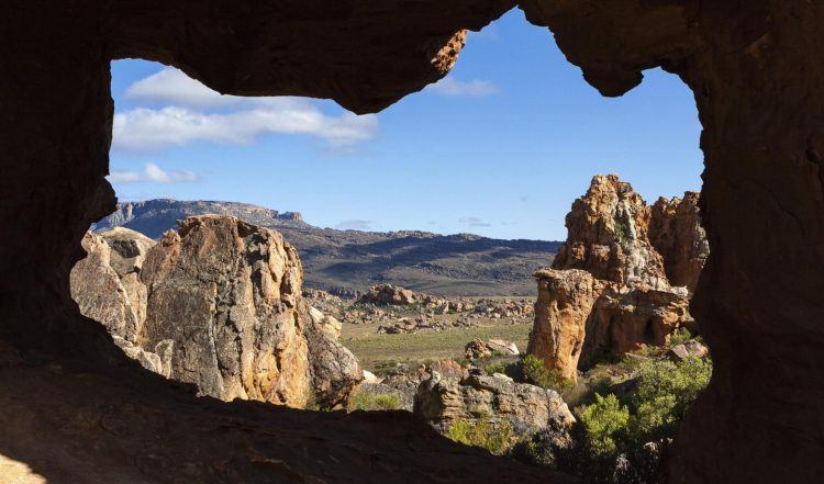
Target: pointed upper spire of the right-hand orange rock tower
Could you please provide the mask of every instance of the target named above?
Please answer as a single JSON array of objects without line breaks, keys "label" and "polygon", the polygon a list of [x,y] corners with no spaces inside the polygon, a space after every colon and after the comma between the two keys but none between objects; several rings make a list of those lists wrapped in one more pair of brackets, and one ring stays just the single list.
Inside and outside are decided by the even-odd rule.
[{"label": "pointed upper spire of the right-hand orange rock tower", "polygon": [[667,286],[664,261],[649,244],[649,210],[630,183],[595,176],[567,215],[567,243],[553,269],[582,269],[622,284]]}]

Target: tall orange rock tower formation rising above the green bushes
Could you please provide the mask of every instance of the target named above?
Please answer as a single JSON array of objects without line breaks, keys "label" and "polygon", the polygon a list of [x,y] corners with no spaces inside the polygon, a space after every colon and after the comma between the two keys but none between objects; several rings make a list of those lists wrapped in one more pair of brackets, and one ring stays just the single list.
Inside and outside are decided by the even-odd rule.
[{"label": "tall orange rock tower formation rising above the green bushes", "polygon": [[[603,354],[664,346],[678,328],[694,330],[688,290],[672,288],[665,273],[665,266],[679,274],[689,272],[684,267],[700,272],[698,252],[680,250],[703,240],[697,196],[686,200],[659,201],[650,210],[630,183],[595,176],[567,215],[569,237],[553,269],[535,273],[538,300],[527,351],[576,380],[579,365]],[[671,248],[671,259],[658,254],[653,236]]]}]

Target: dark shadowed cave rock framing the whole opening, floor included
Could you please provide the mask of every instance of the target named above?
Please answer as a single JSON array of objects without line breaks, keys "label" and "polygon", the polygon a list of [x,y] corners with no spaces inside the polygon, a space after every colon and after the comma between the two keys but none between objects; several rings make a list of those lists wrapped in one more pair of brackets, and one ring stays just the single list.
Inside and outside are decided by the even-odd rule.
[{"label": "dark shadowed cave rock framing the whole opening, floor included", "polygon": [[[813,25],[824,16],[821,7],[803,1],[734,7],[723,2],[587,3],[582,9],[566,2],[520,3],[530,22],[553,30],[567,58],[582,68],[584,79],[601,93],[624,94],[638,85],[642,71],[654,67],[677,74],[695,93],[705,153],[700,205],[713,252],[691,307],[717,365],[710,389],[673,442],[664,470],[667,482],[815,482],[822,465],[817,459],[822,376],[816,322],[824,311],[814,283],[824,260],[820,250],[824,246],[822,135],[816,115],[822,105],[821,75],[815,66],[824,49]],[[296,472],[314,475],[323,455],[350,452],[331,440],[314,441],[314,447],[290,446],[320,428],[346,436],[346,441],[368,442],[374,435],[387,436],[379,459],[387,463],[381,468],[386,475],[397,475],[411,460],[422,476],[437,473],[443,477],[447,470],[446,479],[467,480],[477,476],[478,469],[487,469],[482,464],[491,461],[482,455],[441,440],[428,442],[444,453],[435,464],[430,459],[433,453],[410,452],[410,448],[423,448],[426,438],[420,436],[427,434],[397,416],[355,415],[343,425],[331,416],[254,403],[192,404],[186,392],[124,361],[110,338],[80,317],[69,299],[68,274],[81,257],[77,240],[114,203],[103,179],[112,121],[109,59],[152,58],[177,65],[224,92],[334,98],[366,113],[437,80],[455,60],[460,38],[454,32],[478,30],[513,5],[417,2],[413,11],[393,10],[398,7],[393,4],[380,12],[358,10],[355,15],[348,10],[352,5],[343,3],[307,11],[289,4],[275,10],[246,4],[212,15],[209,9],[189,3],[152,3],[136,10],[124,1],[108,4],[102,16],[94,2],[41,7],[20,2],[3,7],[9,38],[25,42],[0,47],[4,70],[16,74],[0,82],[4,93],[13,93],[3,98],[9,115],[0,121],[8,134],[2,138],[9,157],[3,179],[11,180],[2,184],[8,201],[2,216],[10,236],[0,262],[3,273],[16,275],[13,283],[3,281],[2,285],[1,329],[4,345],[12,347],[3,350],[0,374],[2,383],[14,389],[3,392],[14,398],[5,396],[0,405],[3,421],[10,424],[0,442],[2,454],[30,463],[47,479],[60,479],[62,471],[64,479],[85,477],[78,469],[94,469],[100,482],[118,474],[121,479],[125,474],[137,479],[141,473],[168,477],[164,465],[125,468],[118,457],[135,449],[129,449],[134,439],[123,436],[153,429],[164,434],[168,443],[181,436],[191,440],[194,432],[204,451],[201,455],[221,455],[226,446],[212,442],[247,448],[243,434],[255,434],[256,425],[265,421],[283,429],[279,437],[286,438],[280,443],[269,439],[270,446],[255,450],[290,464],[274,465],[269,477],[291,479]],[[404,14],[401,24],[375,21],[399,13]],[[274,19],[278,26],[299,20],[301,33],[320,35],[303,36],[300,44],[283,42],[282,36],[293,36],[298,30],[253,21],[258,18]],[[392,25],[392,32],[387,25]],[[52,35],[43,35],[46,31]],[[271,50],[244,48],[250,47],[244,44],[250,38],[275,49],[290,46],[278,50],[279,69],[260,67],[267,64],[256,60],[271,60],[267,57]],[[339,48],[336,52],[372,55],[324,57],[330,45]],[[241,55],[246,56],[243,61]],[[399,64],[405,68],[391,68]],[[229,71],[233,75],[227,77]],[[49,123],[43,123],[44,119]],[[20,216],[33,213],[40,216]],[[747,354],[737,346],[742,335],[748,342]],[[57,364],[43,365],[49,360]],[[783,378],[789,373],[797,376],[791,392]],[[90,405],[88,395],[97,395],[98,405]],[[71,412],[49,402],[60,402]],[[103,402],[110,404],[104,412]],[[130,402],[125,412],[118,405],[122,402]],[[176,409],[177,421],[165,417],[169,408]],[[235,430],[238,423],[243,430]],[[77,442],[68,465],[44,459],[44,453],[65,455],[59,439],[54,438],[55,428]],[[108,434],[96,436],[90,430],[96,428]],[[32,442],[37,436],[37,442]],[[98,439],[105,446],[93,446]],[[767,449],[765,441],[776,443],[775,448]],[[34,450],[44,442],[57,447]],[[405,447],[392,447],[397,442]],[[147,438],[140,449],[143,453],[134,453],[143,455],[152,444]],[[114,450],[92,455],[78,447]],[[154,448],[167,462],[191,464],[183,466],[191,472],[212,472],[208,465],[193,463],[188,449],[180,452],[156,441]],[[404,455],[403,464],[392,460],[389,451]],[[459,458],[453,459],[453,452]],[[302,460],[307,455],[314,459]],[[259,481],[258,458],[235,453],[229,468],[218,465],[213,472],[224,472],[225,479]],[[96,460],[105,460],[107,465],[96,465]],[[357,480],[353,470],[361,469],[341,465],[341,461],[329,459],[325,469],[334,470],[338,480]],[[513,480],[538,481],[530,470],[503,462],[492,465]],[[553,479],[565,482],[564,476]]]}]

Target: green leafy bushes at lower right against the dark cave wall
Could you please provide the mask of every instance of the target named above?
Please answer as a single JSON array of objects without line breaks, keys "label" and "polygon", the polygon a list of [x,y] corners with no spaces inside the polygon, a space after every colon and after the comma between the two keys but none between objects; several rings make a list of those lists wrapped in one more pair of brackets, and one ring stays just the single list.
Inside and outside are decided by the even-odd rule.
[{"label": "green leafy bushes at lower right against the dark cave wall", "polygon": [[516,457],[598,484],[653,483],[660,450],[711,374],[709,359],[643,360],[631,376],[633,391],[601,385],[593,403],[575,409],[569,447],[547,448],[536,435]]}]

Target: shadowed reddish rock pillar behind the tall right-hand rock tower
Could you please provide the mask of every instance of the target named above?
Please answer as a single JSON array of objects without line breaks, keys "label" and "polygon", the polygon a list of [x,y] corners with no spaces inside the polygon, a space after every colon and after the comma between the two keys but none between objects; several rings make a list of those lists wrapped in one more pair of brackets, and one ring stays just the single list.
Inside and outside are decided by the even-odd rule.
[{"label": "shadowed reddish rock pillar behind the tall right-hand rock tower", "polygon": [[686,192],[683,199],[660,198],[652,206],[649,241],[664,258],[671,285],[695,291],[698,277],[710,256],[706,232],[701,226],[699,194]]}]

